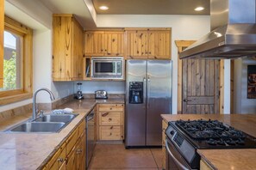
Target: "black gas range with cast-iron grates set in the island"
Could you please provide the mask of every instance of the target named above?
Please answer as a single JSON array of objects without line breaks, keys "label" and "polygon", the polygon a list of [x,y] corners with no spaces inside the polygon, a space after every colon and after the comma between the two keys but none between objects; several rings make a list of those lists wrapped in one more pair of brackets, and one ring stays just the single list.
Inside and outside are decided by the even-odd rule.
[{"label": "black gas range with cast-iron grates set in the island", "polygon": [[165,134],[166,148],[175,148],[188,169],[199,169],[197,149],[256,149],[254,137],[218,120],[171,121]]}]

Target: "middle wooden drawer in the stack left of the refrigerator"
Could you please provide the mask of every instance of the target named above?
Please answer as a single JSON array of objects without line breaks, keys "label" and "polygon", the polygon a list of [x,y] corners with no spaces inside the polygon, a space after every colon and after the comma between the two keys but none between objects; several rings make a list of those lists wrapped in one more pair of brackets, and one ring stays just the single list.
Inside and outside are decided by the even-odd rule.
[{"label": "middle wooden drawer in the stack left of the refrigerator", "polygon": [[122,112],[99,112],[100,125],[122,125]]}]

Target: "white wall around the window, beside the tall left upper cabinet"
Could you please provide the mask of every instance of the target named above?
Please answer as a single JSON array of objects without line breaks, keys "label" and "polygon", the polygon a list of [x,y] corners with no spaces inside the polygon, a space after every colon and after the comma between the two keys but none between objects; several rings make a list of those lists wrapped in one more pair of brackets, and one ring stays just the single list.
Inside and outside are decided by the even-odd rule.
[{"label": "white wall around the window, beside the tall left upper cabinet", "polygon": [[[5,4],[5,14],[34,29],[34,91],[38,88],[49,88],[57,99],[73,93],[73,82],[66,82],[66,84],[52,82],[52,12],[40,1],[6,0]],[[50,102],[48,94],[43,92],[38,95],[37,100],[42,103]],[[0,112],[31,102],[32,100],[29,99],[0,106]]]}]

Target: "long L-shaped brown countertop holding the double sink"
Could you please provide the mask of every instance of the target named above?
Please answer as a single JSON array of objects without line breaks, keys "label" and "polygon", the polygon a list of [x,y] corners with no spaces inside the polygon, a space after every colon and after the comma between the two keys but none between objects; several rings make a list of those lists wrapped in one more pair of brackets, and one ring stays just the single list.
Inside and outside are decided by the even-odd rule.
[{"label": "long L-shaped brown countertop holding the double sink", "polygon": [[18,116],[15,119],[1,124],[0,132],[0,167],[4,169],[37,169],[44,166],[59,146],[66,141],[66,138],[75,130],[78,123],[84,120],[86,114],[96,104],[124,103],[123,99],[109,100],[71,100],[59,108],[69,107],[78,113],[72,122],[66,125],[58,133],[6,133],[10,125],[21,123],[31,113]]}]

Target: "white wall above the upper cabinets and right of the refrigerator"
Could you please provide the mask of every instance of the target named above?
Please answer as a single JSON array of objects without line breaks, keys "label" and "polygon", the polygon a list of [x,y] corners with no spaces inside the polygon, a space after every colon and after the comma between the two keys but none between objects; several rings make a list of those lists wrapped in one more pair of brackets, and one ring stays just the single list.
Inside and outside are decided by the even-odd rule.
[{"label": "white wall above the upper cabinets and right of the refrigerator", "polygon": [[177,113],[178,49],[175,40],[197,40],[209,33],[206,15],[97,15],[97,27],[172,27],[172,112]]}]

